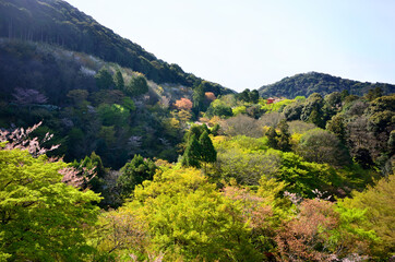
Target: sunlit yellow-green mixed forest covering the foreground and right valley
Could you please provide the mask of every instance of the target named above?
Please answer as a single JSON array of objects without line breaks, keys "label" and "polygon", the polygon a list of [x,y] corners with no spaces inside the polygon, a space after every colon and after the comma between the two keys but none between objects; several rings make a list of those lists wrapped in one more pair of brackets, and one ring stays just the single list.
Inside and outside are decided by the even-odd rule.
[{"label": "sunlit yellow-green mixed forest covering the foreground and right valley", "polygon": [[[93,152],[68,164],[47,156],[59,146],[48,133],[33,135],[40,123],[1,131],[1,258],[390,259],[395,96],[254,94],[185,120],[173,163],[134,154],[116,169]],[[193,114],[188,98],[176,104]]]}]

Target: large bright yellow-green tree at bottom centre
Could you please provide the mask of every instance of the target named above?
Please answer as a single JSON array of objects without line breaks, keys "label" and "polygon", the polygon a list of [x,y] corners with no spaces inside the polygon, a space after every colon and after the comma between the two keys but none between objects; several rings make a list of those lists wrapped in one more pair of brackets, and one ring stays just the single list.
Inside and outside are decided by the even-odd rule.
[{"label": "large bright yellow-green tree at bottom centre", "polygon": [[241,207],[224,196],[196,169],[157,172],[134,191],[131,209],[147,224],[151,249],[165,260],[261,261],[248,241]]}]

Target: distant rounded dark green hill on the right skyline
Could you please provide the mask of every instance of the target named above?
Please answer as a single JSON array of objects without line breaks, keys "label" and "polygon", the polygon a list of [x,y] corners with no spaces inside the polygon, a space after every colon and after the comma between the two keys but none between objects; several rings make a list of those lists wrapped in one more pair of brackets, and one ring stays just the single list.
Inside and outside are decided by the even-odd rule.
[{"label": "distant rounded dark green hill on the right skyline", "polygon": [[312,93],[321,95],[347,90],[354,95],[363,95],[369,90],[381,87],[385,94],[395,93],[395,85],[383,83],[358,82],[333,76],[324,73],[301,73],[290,78],[285,78],[274,84],[264,85],[259,88],[261,96],[284,96],[294,98],[296,96],[310,96]]}]

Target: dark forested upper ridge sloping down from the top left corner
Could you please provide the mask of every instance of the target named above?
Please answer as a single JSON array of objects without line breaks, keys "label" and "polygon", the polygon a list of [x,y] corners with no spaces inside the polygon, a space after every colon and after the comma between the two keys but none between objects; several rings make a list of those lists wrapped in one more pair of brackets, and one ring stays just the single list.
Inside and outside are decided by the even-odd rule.
[{"label": "dark forested upper ridge sloping down from the top left corner", "polygon": [[[132,25],[139,26],[139,25]],[[203,80],[122,38],[61,0],[0,0],[0,37],[58,45],[145,74],[155,83],[192,87]],[[216,94],[230,93],[211,83]]]}]

